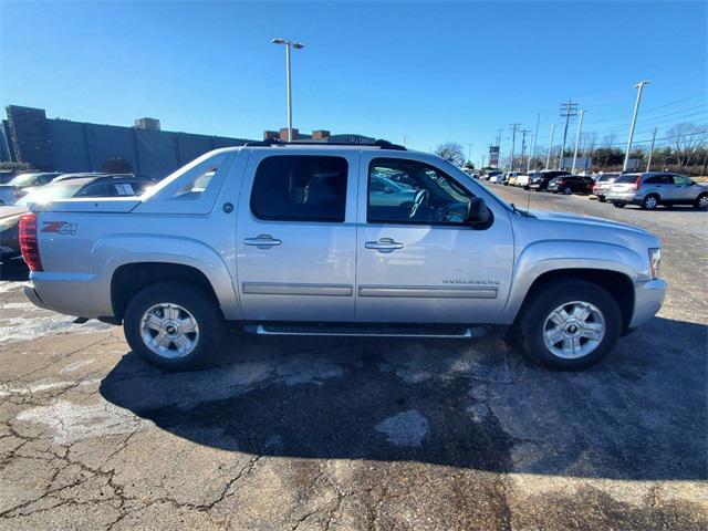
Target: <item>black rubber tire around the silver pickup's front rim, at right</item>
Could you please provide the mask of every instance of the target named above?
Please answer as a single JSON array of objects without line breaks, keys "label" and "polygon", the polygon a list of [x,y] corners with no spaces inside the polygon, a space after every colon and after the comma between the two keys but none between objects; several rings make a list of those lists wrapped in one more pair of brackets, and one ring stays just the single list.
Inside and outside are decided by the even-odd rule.
[{"label": "black rubber tire around the silver pickup's front rim, at right", "polygon": [[[543,341],[543,331],[549,315],[559,306],[573,301],[583,301],[596,306],[605,322],[604,336],[597,346],[581,357],[560,357]],[[601,362],[613,350],[622,333],[622,314],[615,299],[604,289],[582,280],[561,281],[545,288],[524,302],[514,323],[513,341],[534,363],[553,369],[579,371]]]}]

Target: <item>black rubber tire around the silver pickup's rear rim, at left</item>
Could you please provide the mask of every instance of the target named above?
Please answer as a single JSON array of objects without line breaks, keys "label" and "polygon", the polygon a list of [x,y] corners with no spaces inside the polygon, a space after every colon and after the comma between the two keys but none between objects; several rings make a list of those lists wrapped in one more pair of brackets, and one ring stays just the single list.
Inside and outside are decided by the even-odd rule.
[{"label": "black rubber tire around the silver pickup's rear rim, at left", "polygon": [[[184,357],[158,355],[143,340],[143,315],[160,303],[181,306],[197,323],[199,332],[195,339],[196,346]],[[219,350],[226,323],[214,295],[180,283],[165,282],[145,288],[131,300],[123,316],[123,327],[133,352],[150,365],[166,371],[189,371],[204,366],[212,357],[211,354]]]}]

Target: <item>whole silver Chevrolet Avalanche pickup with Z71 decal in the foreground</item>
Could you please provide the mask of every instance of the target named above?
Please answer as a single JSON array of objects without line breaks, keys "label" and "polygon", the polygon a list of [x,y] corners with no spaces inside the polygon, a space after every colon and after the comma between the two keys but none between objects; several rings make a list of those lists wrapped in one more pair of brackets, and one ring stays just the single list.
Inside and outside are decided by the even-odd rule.
[{"label": "whole silver Chevrolet Avalanche pickup with Z71 decal in the foreground", "polygon": [[524,211],[430,154],[256,143],[217,149],[140,197],[31,205],[37,305],[123,323],[167,368],[258,334],[473,337],[503,327],[577,369],[652,319],[660,242],[598,218]]}]

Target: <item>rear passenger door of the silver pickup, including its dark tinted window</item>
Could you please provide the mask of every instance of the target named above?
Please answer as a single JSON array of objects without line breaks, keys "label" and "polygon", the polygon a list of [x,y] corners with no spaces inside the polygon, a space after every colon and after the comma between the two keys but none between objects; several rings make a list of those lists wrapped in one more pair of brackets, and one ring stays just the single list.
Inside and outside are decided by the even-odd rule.
[{"label": "rear passenger door of the silver pickup, including its dark tinted window", "polygon": [[358,158],[354,149],[252,150],[236,230],[246,320],[354,321]]}]

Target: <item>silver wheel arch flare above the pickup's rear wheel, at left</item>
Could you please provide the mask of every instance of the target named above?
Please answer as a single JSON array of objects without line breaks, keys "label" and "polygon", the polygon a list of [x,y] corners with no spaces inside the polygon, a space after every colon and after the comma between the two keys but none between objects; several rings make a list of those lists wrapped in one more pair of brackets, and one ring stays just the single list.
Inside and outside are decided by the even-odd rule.
[{"label": "silver wheel arch flare above the pickup's rear wheel, at left", "polygon": [[241,320],[231,275],[221,257],[209,246],[177,236],[117,235],[100,238],[91,251],[91,271],[103,279],[103,292],[111,301],[111,279],[121,266],[164,262],[189,266],[201,271],[219,301],[227,320]]}]

